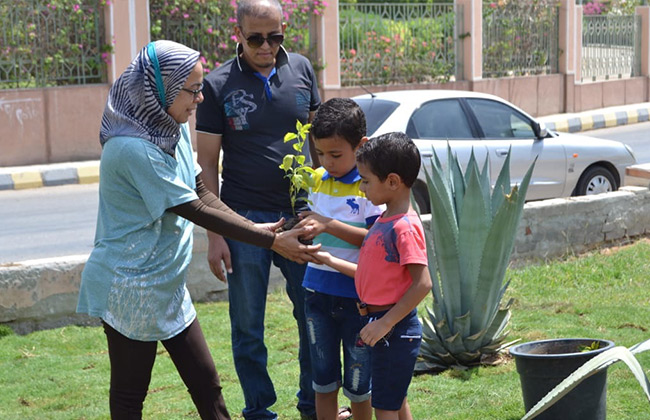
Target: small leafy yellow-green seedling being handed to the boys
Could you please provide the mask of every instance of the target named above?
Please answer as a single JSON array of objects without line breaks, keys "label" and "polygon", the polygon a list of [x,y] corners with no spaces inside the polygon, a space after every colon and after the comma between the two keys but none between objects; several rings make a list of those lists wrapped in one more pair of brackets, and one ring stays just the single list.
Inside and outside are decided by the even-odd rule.
[{"label": "small leafy yellow-green seedling being handed to the boys", "polygon": [[293,217],[287,220],[280,227],[280,230],[289,230],[298,223],[299,218],[296,214],[296,207],[299,203],[310,204],[307,194],[309,193],[309,189],[314,186],[314,179],[312,177],[314,169],[305,164],[307,158],[302,151],[308,139],[310,128],[311,124],[303,124],[300,121],[296,121],[296,132],[289,132],[284,136],[285,143],[294,142],[292,146],[296,153],[286,154],[280,165],[280,169],[285,173],[284,176],[289,180],[289,200],[293,213]]}]

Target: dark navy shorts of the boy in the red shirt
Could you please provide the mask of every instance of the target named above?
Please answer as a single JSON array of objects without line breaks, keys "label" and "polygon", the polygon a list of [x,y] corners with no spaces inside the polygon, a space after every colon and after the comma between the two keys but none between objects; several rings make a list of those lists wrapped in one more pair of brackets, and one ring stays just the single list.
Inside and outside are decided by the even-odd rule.
[{"label": "dark navy shorts of the boy in the red shirt", "polygon": [[[388,311],[369,314],[368,322]],[[422,342],[422,325],[413,309],[386,337],[379,340],[370,354],[372,365],[372,406],[397,411],[402,407],[413,377],[415,361]]]}]

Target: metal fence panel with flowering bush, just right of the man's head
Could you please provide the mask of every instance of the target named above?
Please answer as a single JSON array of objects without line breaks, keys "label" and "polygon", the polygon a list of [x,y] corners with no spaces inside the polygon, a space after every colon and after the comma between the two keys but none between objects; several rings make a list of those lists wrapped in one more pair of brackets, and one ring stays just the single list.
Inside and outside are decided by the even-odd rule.
[{"label": "metal fence panel with flowering bush, just right of the man's head", "polygon": [[339,3],[341,84],[446,82],[462,74],[462,6]]}]

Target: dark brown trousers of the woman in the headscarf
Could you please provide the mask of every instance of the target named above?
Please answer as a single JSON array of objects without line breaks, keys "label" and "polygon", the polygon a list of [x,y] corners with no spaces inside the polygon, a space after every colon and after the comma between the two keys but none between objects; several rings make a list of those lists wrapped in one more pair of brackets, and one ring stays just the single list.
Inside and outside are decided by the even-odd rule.
[{"label": "dark brown trousers of the woman in the headscarf", "polygon": [[[142,404],[156,359],[156,341],[131,340],[104,324],[111,362],[111,418],[142,418]],[[219,374],[199,321],[175,337],[162,341],[202,419],[230,419],[221,394]]]}]

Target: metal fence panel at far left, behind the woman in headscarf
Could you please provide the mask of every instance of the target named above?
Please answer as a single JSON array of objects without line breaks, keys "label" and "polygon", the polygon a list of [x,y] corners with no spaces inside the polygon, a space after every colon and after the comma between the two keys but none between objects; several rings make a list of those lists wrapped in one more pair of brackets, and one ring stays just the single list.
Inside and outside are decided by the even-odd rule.
[{"label": "metal fence panel at far left, behind the woman in headscarf", "polygon": [[0,89],[105,82],[100,1],[45,3],[0,3]]}]

